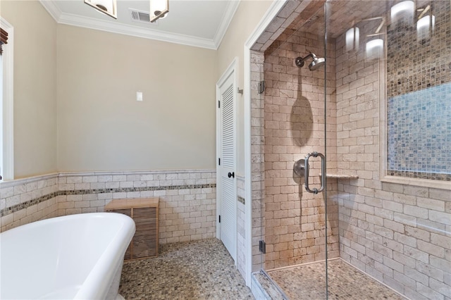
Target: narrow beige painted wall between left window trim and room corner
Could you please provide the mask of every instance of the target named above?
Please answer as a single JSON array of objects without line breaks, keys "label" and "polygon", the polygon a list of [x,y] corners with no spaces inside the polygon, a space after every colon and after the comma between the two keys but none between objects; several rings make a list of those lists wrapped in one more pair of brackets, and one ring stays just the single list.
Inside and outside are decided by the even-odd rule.
[{"label": "narrow beige painted wall between left window trim and room corner", "polygon": [[56,171],[56,22],[38,1],[5,1],[14,27],[14,173]]}]

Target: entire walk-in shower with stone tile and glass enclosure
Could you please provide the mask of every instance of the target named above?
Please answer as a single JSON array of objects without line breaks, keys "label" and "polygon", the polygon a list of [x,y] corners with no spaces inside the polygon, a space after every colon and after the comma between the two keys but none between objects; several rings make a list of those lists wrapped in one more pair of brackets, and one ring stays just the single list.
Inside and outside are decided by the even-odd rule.
[{"label": "entire walk-in shower with stone tile and glass enclosure", "polygon": [[254,271],[289,299],[450,299],[451,1],[284,20],[251,54]]}]

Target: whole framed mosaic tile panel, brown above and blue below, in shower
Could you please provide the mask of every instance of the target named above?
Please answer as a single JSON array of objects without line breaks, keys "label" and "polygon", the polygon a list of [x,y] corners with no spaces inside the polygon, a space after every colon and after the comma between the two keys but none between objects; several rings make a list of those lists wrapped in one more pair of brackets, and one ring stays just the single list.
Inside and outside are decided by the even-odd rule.
[{"label": "whole framed mosaic tile panel, brown above and blue below, in shower", "polygon": [[387,170],[451,181],[451,3],[426,4],[435,15],[432,35],[419,35],[411,20],[387,29]]}]

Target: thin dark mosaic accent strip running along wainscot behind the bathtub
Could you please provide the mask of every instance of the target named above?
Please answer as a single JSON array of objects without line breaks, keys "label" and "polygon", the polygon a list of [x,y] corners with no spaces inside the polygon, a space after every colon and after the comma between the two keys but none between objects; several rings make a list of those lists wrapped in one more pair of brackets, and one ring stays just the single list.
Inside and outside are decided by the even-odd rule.
[{"label": "thin dark mosaic accent strip running along wainscot behind the bathtub", "polygon": [[68,196],[68,195],[82,195],[82,194],[104,194],[104,193],[118,193],[118,192],[145,192],[145,191],[165,191],[171,189],[208,189],[215,188],[216,184],[206,184],[206,185],[172,185],[172,186],[160,186],[160,187],[122,187],[114,189],[73,189],[68,191],[58,191],[52,192],[45,196],[40,196],[39,198],[32,199],[30,201],[25,201],[21,204],[16,204],[5,208],[0,211],[0,217],[20,211],[21,209],[28,208],[30,206],[39,204],[43,201],[49,200],[56,196]]}]

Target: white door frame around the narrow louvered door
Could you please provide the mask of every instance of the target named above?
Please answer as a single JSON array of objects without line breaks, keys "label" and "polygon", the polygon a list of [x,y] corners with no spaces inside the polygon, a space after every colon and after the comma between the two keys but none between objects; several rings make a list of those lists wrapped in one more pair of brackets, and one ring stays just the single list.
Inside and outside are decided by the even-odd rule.
[{"label": "white door frame around the narrow louvered door", "polygon": [[[221,126],[222,126],[222,115],[221,115],[221,108],[218,107],[218,101],[221,100],[221,91],[220,91],[220,87],[221,85],[223,85],[224,82],[226,82],[226,80],[228,80],[228,78],[230,76],[233,77],[233,93],[234,93],[234,100],[233,101],[233,119],[237,120],[237,104],[236,104],[236,99],[237,99],[237,64],[238,64],[238,58],[235,57],[233,58],[233,61],[230,63],[230,65],[228,66],[228,68],[226,69],[226,71],[223,73],[223,75],[221,75],[221,77],[219,78],[218,82],[216,82],[216,237],[218,239],[221,239],[221,224],[219,223],[219,215],[221,215],[221,204],[222,204],[222,199],[221,199],[221,172],[220,172],[220,167],[219,167],[219,158],[221,158],[221,153],[222,153],[222,135],[221,135]],[[233,161],[233,169],[235,170],[235,177],[233,178],[233,187],[235,189],[235,196],[237,194],[237,175],[236,175],[236,170],[237,170],[237,127],[235,124],[234,127],[234,132],[233,135],[235,137],[235,160]],[[236,198],[236,197],[235,197]],[[235,220],[233,222],[234,224],[234,237],[235,237],[235,266],[237,265],[237,205],[236,205],[236,201],[237,199],[233,199],[233,201],[235,201]]]}]

